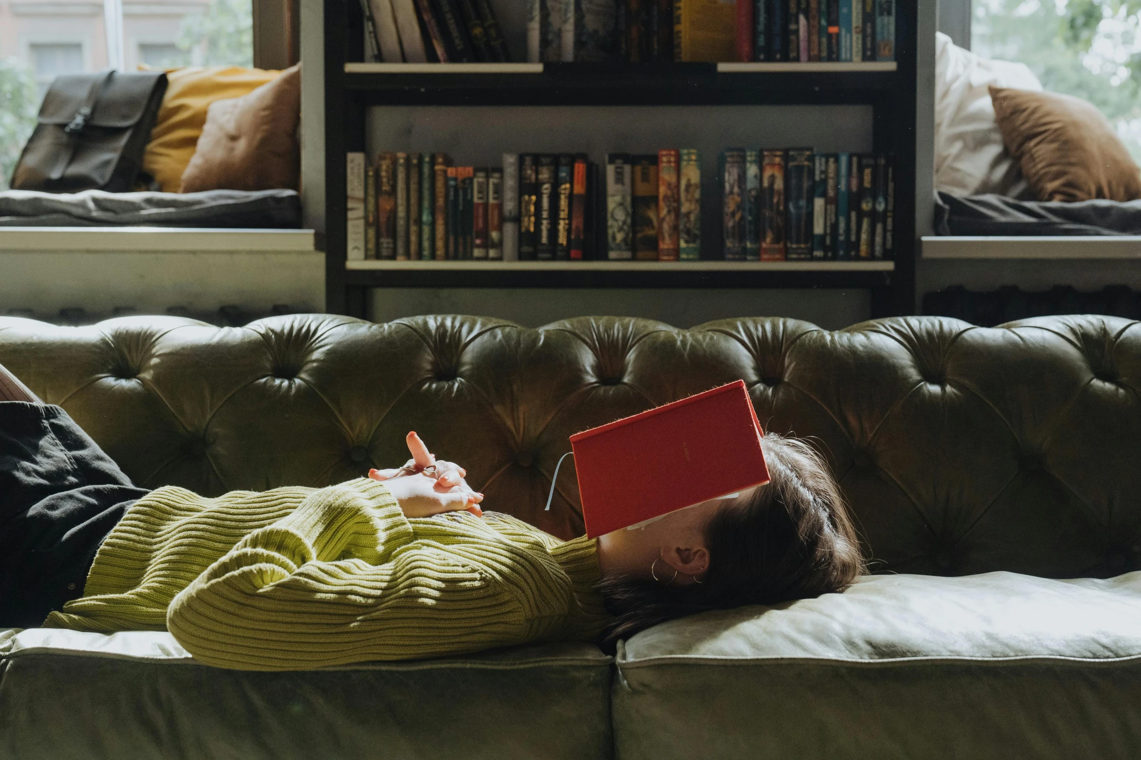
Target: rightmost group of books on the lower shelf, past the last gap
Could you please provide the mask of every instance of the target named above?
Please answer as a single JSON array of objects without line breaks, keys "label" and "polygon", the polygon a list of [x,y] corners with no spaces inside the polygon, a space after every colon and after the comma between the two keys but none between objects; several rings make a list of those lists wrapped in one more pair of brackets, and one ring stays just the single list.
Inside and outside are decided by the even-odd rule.
[{"label": "rightmost group of books on the lower shelf, past the last gap", "polygon": [[730,148],[719,173],[727,260],[893,258],[890,153]]}]

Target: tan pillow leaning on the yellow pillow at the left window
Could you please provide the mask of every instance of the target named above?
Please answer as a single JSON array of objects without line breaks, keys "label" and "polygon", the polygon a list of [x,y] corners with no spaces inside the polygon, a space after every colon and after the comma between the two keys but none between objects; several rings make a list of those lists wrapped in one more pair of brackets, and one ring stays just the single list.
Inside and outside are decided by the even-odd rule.
[{"label": "tan pillow leaning on the yellow pillow at the left window", "polygon": [[301,172],[300,115],[300,64],[249,95],[210,104],[179,191],[296,190]]}]

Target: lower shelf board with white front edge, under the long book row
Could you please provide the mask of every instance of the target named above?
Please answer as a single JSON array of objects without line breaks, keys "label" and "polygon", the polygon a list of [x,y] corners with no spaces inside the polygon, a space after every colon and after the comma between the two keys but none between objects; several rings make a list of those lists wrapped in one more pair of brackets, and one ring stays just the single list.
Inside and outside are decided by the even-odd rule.
[{"label": "lower shelf board with white front edge, under the long book row", "polygon": [[891,261],[349,261],[364,287],[872,288]]}]

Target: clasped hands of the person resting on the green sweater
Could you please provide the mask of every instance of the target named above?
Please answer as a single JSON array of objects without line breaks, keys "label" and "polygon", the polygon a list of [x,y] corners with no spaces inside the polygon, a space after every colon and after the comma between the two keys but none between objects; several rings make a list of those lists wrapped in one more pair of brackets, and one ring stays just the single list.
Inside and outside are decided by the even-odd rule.
[{"label": "clasped hands of the person resting on the green sweater", "polygon": [[407,435],[412,458],[404,467],[370,469],[369,477],[383,481],[406,517],[428,517],[443,512],[468,510],[483,515],[483,493],[468,487],[467,471],[452,461],[436,459],[415,432]]}]

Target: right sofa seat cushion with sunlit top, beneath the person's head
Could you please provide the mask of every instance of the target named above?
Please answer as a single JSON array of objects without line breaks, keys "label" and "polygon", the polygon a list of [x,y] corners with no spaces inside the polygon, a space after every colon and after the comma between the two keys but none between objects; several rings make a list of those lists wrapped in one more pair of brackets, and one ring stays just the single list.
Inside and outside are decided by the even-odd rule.
[{"label": "right sofa seat cushion with sunlit top, beneath the person's head", "polygon": [[617,665],[622,760],[1133,757],[1141,572],[868,577],[658,626]]}]

